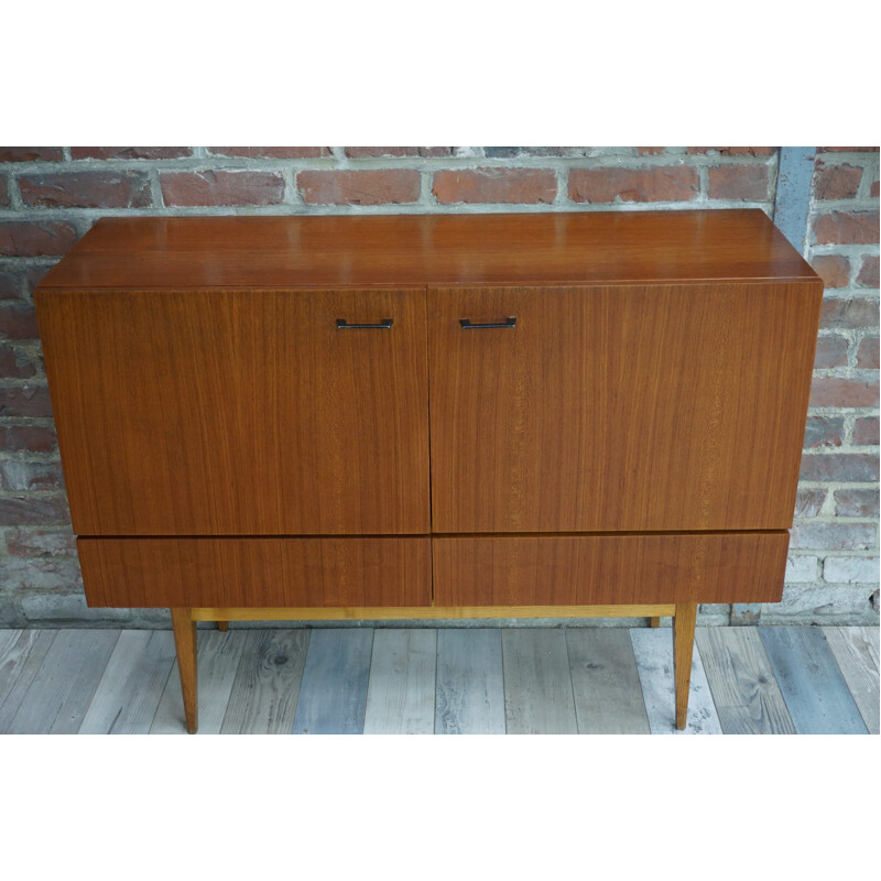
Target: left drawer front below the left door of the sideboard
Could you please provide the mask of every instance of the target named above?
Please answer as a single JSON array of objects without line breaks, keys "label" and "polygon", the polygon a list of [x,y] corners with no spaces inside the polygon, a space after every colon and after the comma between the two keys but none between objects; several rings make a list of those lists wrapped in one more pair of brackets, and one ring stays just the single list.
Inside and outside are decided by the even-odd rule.
[{"label": "left drawer front below the left door of the sideboard", "polygon": [[429,606],[407,539],[78,539],[89,606]]}]

